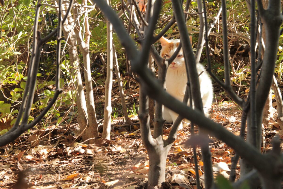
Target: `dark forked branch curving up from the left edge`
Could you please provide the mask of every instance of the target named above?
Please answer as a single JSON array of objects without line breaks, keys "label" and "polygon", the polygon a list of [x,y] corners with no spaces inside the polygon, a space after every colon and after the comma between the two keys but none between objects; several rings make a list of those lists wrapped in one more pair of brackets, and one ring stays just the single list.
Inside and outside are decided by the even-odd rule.
[{"label": "dark forked branch curving up from the left edge", "polygon": [[[40,32],[38,31],[38,18],[41,6],[41,0],[38,0],[36,6],[36,13],[35,13],[35,22],[34,22],[34,30],[33,30],[33,51],[31,54],[30,60],[30,68],[27,76],[27,85],[23,94],[23,100],[21,107],[19,109],[18,116],[16,118],[16,122],[14,126],[4,135],[0,137],[0,146],[4,146],[12,141],[14,141],[17,137],[19,137],[24,131],[35,126],[43,117],[44,115],[50,110],[53,104],[56,102],[57,97],[62,92],[60,88],[60,54],[61,54],[61,32],[57,33],[57,57],[56,57],[56,90],[53,98],[48,103],[46,108],[35,118],[35,120],[28,124],[28,117],[31,111],[31,105],[33,102],[33,96],[35,93],[35,85],[37,79],[37,71],[39,67],[39,60],[42,45],[50,39],[57,31],[61,31],[63,22],[67,19],[67,15],[71,10],[73,0],[70,0],[70,7],[67,10],[67,14],[63,20],[61,20],[61,0],[59,0],[59,16],[58,16],[58,26],[54,29],[48,36],[41,39]],[[52,35],[51,35],[52,34]],[[22,122],[21,122],[22,119]],[[21,122],[21,124],[20,124]]]}]

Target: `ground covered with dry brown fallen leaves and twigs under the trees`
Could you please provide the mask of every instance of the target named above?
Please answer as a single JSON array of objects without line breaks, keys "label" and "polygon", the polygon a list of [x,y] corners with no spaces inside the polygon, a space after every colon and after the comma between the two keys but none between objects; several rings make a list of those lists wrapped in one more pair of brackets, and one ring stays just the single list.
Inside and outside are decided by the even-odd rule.
[{"label": "ground covered with dry brown fallen leaves and twigs under the trees", "polygon": [[[98,140],[94,144],[77,141],[80,133],[77,123],[51,125],[24,133],[15,143],[0,148],[0,188],[146,188],[148,155],[141,142],[137,110],[134,110],[135,105],[132,107],[130,118],[134,124],[131,129],[124,125],[122,117],[113,117],[111,139]],[[215,103],[210,117],[239,135],[241,110],[234,103]],[[275,118],[264,127],[266,142],[262,150],[267,151],[271,149],[271,138],[276,133],[282,135],[283,130]],[[169,131],[170,128],[164,129],[164,139]],[[189,137],[189,127],[178,131],[178,138],[167,157],[163,188],[196,188],[192,148],[181,145]],[[214,137],[211,137],[210,149],[214,175],[228,178],[233,150]],[[203,186],[199,147],[197,158]]]}]

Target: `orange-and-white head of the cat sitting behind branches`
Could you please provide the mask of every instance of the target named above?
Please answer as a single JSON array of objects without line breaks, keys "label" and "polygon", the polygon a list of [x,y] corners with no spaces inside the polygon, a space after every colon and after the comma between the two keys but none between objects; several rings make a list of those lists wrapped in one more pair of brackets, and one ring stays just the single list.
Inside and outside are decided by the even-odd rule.
[{"label": "orange-and-white head of the cat sitting behind branches", "polygon": [[[190,40],[192,41],[191,37],[192,36],[190,36]],[[176,51],[177,47],[180,44],[179,39],[168,40],[163,36],[160,38],[160,41],[162,46],[160,55],[162,58],[165,56],[166,59],[170,58],[173,55],[173,53]],[[168,71],[186,71],[185,59],[182,48],[175,60],[173,60],[172,63],[169,65]]]}]

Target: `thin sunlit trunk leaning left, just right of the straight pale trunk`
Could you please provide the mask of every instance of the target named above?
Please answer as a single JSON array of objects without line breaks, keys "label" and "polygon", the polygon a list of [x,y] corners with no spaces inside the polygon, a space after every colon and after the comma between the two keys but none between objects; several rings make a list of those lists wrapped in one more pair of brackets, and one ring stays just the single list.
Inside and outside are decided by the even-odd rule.
[{"label": "thin sunlit trunk leaning left, just right of the straight pale trunk", "polygon": [[119,64],[118,64],[118,60],[117,60],[117,53],[116,53],[114,44],[113,44],[113,55],[114,55],[113,58],[115,60],[114,61],[114,63],[115,63],[114,69],[115,69],[115,72],[116,72],[117,83],[118,83],[118,86],[119,86],[121,104],[122,104],[124,117],[125,117],[125,120],[126,120],[126,124],[132,125],[133,122],[130,120],[130,118],[128,116],[128,112],[127,112],[127,104],[126,104],[125,96],[124,96],[123,83],[122,83],[121,76],[120,76]]}]

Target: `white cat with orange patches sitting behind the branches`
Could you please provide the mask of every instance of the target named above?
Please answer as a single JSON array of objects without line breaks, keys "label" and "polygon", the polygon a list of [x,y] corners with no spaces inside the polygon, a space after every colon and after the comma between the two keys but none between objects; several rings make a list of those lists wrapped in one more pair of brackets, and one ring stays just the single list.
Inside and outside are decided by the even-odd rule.
[{"label": "white cat with orange patches sitting behind the branches", "polygon": [[[192,36],[189,37],[190,41],[192,41]],[[168,40],[162,36],[160,38],[160,42],[162,46],[160,55],[162,58],[166,57],[166,59],[168,59],[173,55],[173,53],[179,46],[180,39]],[[198,80],[200,82],[200,93],[203,103],[203,111],[205,113],[205,116],[208,117],[208,110],[211,108],[211,103],[213,100],[213,86],[209,74],[205,70],[205,67],[200,63],[197,63],[196,68],[199,74]],[[165,79],[166,91],[182,102],[185,95],[187,81],[185,59],[183,56],[183,50],[181,48],[175,60],[173,60],[173,62],[168,66]],[[163,118],[167,123],[174,123],[177,117],[177,113],[164,107]],[[179,129],[182,128],[183,123],[181,122],[179,124]]]}]

